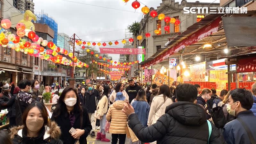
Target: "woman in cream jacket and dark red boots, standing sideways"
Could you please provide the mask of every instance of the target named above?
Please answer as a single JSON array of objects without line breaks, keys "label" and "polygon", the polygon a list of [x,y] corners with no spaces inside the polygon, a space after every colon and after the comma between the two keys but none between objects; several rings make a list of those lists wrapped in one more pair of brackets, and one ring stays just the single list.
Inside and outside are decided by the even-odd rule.
[{"label": "woman in cream jacket and dark red boots, standing sideways", "polygon": [[100,132],[97,133],[96,140],[101,140],[105,142],[109,142],[106,138],[106,132],[105,132],[105,124],[106,124],[106,114],[108,112],[109,108],[109,100],[108,100],[108,94],[110,92],[110,88],[108,85],[105,85],[103,87],[103,93],[100,96],[100,101],[97,105],[97,112],[100,113]]}]

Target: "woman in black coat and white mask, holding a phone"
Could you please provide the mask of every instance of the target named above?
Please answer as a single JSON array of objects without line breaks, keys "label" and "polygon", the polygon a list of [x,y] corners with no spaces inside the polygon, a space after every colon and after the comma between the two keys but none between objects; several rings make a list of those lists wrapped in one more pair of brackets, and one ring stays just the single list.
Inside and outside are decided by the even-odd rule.
[{"label": "woman in black coat and white mask, holding a phone", "polygon": [[[80,106],[80,100],[74,88],[67,87],[62,91],[51,120],[60,126],[60,140],[64,144],[73,144],[78,139],[81,144],[87,143],[86,137],[91,131],[92,125],[87,109]],[[70,134],[69,130],[72,127],[76,132]]]}]

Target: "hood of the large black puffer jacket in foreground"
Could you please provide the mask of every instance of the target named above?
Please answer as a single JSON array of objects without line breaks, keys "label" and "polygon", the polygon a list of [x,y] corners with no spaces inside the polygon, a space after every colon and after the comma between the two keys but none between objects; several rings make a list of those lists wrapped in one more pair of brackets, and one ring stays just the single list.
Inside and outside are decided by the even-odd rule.
[{"label": "hood of the large black puffer jacket in foreground", "polygon": [[204,109],[191,102],[174,102],[165,109],[165,113],[184,125],[202,125],[206,121]]}]

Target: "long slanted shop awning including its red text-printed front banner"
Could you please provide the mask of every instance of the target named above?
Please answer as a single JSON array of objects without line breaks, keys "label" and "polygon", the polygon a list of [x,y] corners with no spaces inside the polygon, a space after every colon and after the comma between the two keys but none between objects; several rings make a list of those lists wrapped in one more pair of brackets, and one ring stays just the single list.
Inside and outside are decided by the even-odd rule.
[{"label": "long slanted shop awning including its red text-printed front banner", "polygon": [[156,57],[150,57],[147,61],[144,61],[142,67],[155,65],[164,59],[168,59],[168,57],[185,47],[195,44],[205,37],[218,32],[221,20],[220,16],[221,15],[208,15],[204,19],[188,27],[186,31],[174,38],[161,54],[158,54]]}]

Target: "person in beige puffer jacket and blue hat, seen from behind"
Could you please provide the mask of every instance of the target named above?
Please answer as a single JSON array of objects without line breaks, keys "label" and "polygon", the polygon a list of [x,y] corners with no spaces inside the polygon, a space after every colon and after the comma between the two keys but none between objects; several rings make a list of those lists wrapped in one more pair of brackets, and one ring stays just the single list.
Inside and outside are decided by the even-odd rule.
[{"label": "person in beige puffer jacket and blue hat, seen from behind", "polygon": [[122,92],[116,93],[116,101],[110,105],[107,113],[107,121],[111,121],[109,126],[109,133],[112,133],[112,144],[117,143],[117,139],[119,136],[119,144],[125,143],[126,138],[126,123],[127,116],[122,111],[124,106],[126,106],[126,102],[124,101],[125,97]]}]

